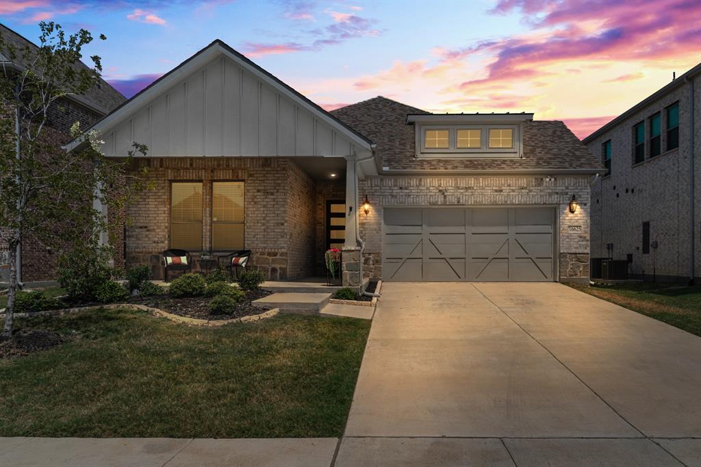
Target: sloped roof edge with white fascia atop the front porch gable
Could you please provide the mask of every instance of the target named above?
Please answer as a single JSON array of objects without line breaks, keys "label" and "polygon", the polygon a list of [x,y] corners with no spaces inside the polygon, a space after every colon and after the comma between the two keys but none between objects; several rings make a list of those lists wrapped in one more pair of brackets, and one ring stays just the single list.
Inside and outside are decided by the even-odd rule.
[{"label": "sloped roof edge with white fascia atop the front porch gable", "polygon": [[[322,109],[322,107],[320,107],[318,104],[315,104],[315,102],[312,102],[307,97],[299,93],[297,90],[294,90],[294,88],[292,88],[291,86],[287,85],[283,81],[280,81],[280,79],[278,79],[273,74],[259,67],[259,65],[256,65],[244,55],[238,53],[236,50],[231,48],[231,46],[224,43],[224,41],[222,41],[221,39],[216,39],[215,41],[212,41],[212,43],[210,43],[208,46],[199,50],[197,53],[189,57],[180,65],[170,70],[170,72],[158,78],[156,81],[139,91],[139,93],[131,97],[129,100],[123,102],[120,106],[116,107],[116,109],[114,109],[102,119],[97,121],[91,127],[91,129],[95,129],[102,132],[104,130],[108,130],[109,128],[114,127],[121,120],[128,118],[130,114],[134,113],[135,111],[139,110],[143,105],[147,104],[149,100],[151,100],[151,98],[156,97],[159,93],[161,93],[161,90],[168,89],[172,84],[177,82],[182,77],[189,75],[191,72],[198,69],[198,67],[205,65],[209,60],[212,60],[212,58],[214,58],[217,54],[223,54],[230,57],[235,62],[237,62],[238,65],[244,67],[244,69],[246,69],[248,72],[251,72],[252,74],[257,76],[258,79],[261,79],[261,81],[264,81],[269,85],[273,86],[273,88],[278,90],[280,93],[287,95],[287,97],[290,97],[301,107],[304,107],[308,111],[311,111],[312,114],[317,116],[319,119],[325,121],[333,128],[339,130],[339,133],[346,135],[346,137],[351,139],[351,141],[359,144],[360,147],[363,147],[368,151],[371,150],[372,147],[374,147],[373,142],[367,139],[367,137],[361,135],[360,133],[358,133],[358,131],[346,125],[346,123],[343,123],[343,121],[336,119],[335,116],[329,114],[329,112],[325,111],[325,109]],[[74,149],[74,147],[77,147],[79,144],[79,140],[74,140],[74,142],[67,145],[67,149]]]}]

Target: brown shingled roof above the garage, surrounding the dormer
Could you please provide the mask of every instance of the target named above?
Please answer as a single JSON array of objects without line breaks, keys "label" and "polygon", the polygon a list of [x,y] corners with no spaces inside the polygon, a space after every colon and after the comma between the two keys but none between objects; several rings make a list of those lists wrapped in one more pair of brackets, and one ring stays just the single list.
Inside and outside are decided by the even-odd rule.
[{"label": "brown shingled roof above the garage, surrounding the dormer", "polygon": [[371,138],[386,172],[522,171],[552,173],[590,172],[603,169],[601,162],[562,121],[524,121],[523,158],[416,158],[414,126],[409,114],[428,111],[387,97],[374,97],[332,111],[336,117]]}]

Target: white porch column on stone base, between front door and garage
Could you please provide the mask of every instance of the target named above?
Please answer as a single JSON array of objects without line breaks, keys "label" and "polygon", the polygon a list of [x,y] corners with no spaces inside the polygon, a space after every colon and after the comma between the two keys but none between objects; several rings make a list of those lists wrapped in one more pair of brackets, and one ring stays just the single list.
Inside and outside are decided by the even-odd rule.
[{"label": "white porch column on stone base, between front door and garage", "polygon": [[360,285],[360,248],[356,241],[355,219],[358,216],[358,194],[355,193],[355,156],[346,156],[346,241],[341,250],[343,285]]}]

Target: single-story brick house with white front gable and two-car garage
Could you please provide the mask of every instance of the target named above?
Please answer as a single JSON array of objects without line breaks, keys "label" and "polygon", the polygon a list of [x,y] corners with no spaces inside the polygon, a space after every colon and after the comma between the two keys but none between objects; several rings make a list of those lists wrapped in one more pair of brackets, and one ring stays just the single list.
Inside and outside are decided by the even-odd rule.
[{"label": "single-story brick house with white front gable and two-car garage", "polygon": [[339,248],[349,285],[588,276],[603,168],[559,121],[385,97],[327,112],[217,40],[94,128],[109,157],[149,147],[134,169],[155,189],[130,207],[115,261],[156,277],[168,248],[250,249],[276,280],[323,273]]}]

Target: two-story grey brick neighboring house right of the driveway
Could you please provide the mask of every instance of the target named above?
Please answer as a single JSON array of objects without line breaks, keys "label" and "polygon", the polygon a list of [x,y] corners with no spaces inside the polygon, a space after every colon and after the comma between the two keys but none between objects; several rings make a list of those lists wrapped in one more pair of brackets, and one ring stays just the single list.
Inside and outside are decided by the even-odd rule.
[{"label": "two-story grey brick neighboring house right of the driveway", "polygon": [[627,259],[633,278],[698,281],[701,64],[584,144],[607,168],[592,185],[592,257]]}]

